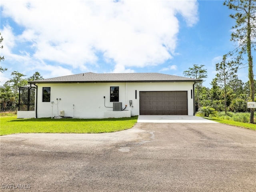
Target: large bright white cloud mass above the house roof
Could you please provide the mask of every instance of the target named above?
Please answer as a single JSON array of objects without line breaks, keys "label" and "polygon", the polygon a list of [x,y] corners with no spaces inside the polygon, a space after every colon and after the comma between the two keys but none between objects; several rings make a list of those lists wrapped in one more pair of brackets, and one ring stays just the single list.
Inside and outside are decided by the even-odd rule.
[{"label": "large bright white cloud mass above the house roof", "polygon": [[162,64],[175,54],[176,15],[182,15],[188,26],[198,21],[196,1],[2,0],[1,7],[2,18],[24,28],[16,34],[14,28],[3,27],[6,58],[35,69],[55,63],[44,66],[52,75],[55,70],[71,73],[63,66],[98,66],[98,52],[113,66],[112,72]]}]

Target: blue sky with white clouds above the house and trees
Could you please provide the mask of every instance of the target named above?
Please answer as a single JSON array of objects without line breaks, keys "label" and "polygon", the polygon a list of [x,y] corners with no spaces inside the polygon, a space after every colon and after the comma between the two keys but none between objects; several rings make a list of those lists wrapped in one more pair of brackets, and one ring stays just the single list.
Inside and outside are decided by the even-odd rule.
[{"label": "blue sky with white clouds above the house and trees", "polygon": [[[184,76],[202,64],[210,87],[215,64],[236,45],[230,13],[222,0],[2,0],[1,66],[8,71],[0,81],[14,70],[44,78],[83,72]],[[248,81],[248,68],[238,78]]]}]

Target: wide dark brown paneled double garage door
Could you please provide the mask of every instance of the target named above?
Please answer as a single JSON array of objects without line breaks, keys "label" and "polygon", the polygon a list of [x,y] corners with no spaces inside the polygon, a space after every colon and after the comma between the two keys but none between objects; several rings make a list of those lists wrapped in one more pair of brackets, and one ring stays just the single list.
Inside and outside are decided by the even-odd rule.
[{"label": "wide dark brown paneled double garage door", "polygon": [[140,91],[140,115],[187,115],[187,91]]}]

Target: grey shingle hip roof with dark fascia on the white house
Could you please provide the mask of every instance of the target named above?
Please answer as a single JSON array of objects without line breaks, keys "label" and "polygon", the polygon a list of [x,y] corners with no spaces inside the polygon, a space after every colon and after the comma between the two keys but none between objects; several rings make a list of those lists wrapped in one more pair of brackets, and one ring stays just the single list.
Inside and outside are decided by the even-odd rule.
[{"label": "grey shingle hip roof with dark fascia on the white house", "polygon": [[161,73],[81,73],[30,81],[29,83],[92,83],[92,82],[201,82],[199,79]]}]

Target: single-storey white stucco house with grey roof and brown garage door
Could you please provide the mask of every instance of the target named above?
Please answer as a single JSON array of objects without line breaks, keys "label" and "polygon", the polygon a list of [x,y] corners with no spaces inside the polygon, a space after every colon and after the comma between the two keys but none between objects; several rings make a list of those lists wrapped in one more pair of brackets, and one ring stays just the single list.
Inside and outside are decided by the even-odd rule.
[{"label": "single-storey white stucco house with grey roof and brown garage door", "polygon": [[[32,102],[20,99],[18,118],[110,118],[195,114],[194,84],[160,73],[92,72],[30,81]],[[20,94],[22,97],[22,94]],[[30,99],[31,100],[31,99]],[[23,105],[23,106],[22,106]]]}]

